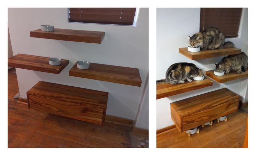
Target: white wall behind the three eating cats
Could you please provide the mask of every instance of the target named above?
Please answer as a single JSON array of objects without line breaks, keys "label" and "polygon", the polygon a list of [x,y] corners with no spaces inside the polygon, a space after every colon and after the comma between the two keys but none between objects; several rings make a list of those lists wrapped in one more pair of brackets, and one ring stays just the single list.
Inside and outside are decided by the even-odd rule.
[{"label": "white wall behind the three eating cats", "polygon": [[[191,18],[193,17],[193,18]],[[190,60],[179,53],[179,47],[186,47],[188,44],[187,35],[199,32],[200,8],[157,8],[157,79],[164,79],[166,70],[173,63],[190,62],[196,64],[204,71],[212,70],[215,64],[223,57]],[[240,35],[236,38],[229,38],[226,41],[234,42],[235,46],[248,54],[248,9],[244,9],[240,26]],[[214,81],[213,86],[193,90],[191,92],[178,94],[157,100],[157,129],[174,124],[171,120],[170,103],[188,97],[200,95],[213,90],[228,88],[239,94],[242,98],[247,97],[247,78],[229,81],[218,84]]]}]

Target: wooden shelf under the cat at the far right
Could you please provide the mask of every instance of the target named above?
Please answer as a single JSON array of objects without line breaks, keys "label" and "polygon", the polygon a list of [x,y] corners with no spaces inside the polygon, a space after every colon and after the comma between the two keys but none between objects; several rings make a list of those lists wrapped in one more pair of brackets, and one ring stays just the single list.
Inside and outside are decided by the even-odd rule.
[{"label": "wooden shelf under the cat at the far right", "polygon": [[206,75],[210,78],[214,79],[218,83],[224,83],[227,81],[232,81],[235,79],[240,79],[243,77],[248,77],[248,69],[245,72],[238,73],[237,71],[230,71],[229,73],[225,73],[223,76],[214,75],[214,70],[206,71]]}]

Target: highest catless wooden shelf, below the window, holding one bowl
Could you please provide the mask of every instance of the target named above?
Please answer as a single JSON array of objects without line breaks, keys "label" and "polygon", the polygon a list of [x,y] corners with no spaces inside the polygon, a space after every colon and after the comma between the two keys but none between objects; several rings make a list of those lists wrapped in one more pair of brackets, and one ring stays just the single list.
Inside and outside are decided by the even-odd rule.
[{"label": "highest catless wooden shelf, below the window, holding one bowl", "polygon": [[55,28],[52,32],[41,31],[37,29],[30,32],[30,37],[48,38],[54,40],[101,43],[105,36],[105,32],[82,31],[72,29]]}]

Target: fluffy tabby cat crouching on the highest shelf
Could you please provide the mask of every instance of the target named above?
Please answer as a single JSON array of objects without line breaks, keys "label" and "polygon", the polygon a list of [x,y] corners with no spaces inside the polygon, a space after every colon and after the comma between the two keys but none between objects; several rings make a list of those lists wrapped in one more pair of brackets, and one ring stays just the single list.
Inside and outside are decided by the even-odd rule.
[{"label": "fluffy tabby cat crouching on the highest shelf", "polygon": [[[210,27],[202,32],[195,33],[192,37],[189,37],[189,45],[192,47],[199,47],[202,50],[214,50],[222,49],[223,47],[233,47],[232,42],[225,42],[225,36],[219,31],[219,29]],[[225,42],[225,43],[224,43]]]}]

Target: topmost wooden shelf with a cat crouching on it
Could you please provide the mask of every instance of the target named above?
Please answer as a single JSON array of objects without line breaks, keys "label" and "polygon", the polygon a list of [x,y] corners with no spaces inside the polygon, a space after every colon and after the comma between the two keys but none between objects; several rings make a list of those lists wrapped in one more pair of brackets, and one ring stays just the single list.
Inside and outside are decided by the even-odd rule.
[{"label": "topmost wooden shelf with a cat crouching on it", "polygon": [[235,47],[229,47],[216,50],[201,50],[200,52],[189,52],[187,47],[179,48],[179,53],[183,54],[191,60],[206,59],[213,57],[220,57],[225,55],[240,54],[241,49]]}]

